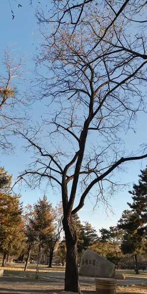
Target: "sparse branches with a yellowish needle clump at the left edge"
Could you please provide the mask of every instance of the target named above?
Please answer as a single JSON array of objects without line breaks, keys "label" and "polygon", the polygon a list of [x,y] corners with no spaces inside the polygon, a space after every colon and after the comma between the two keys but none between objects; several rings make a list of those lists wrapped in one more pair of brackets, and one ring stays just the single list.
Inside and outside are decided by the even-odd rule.
[{"label": "sparse branches with a yellowish needle clump at the left edge", "polygon": [[[13,150],[11,136],[15,128],[23,126],[26,121],[26,93],[18,92],[18,85],[25,80],[25,57],[16,55],[16,49],[7,46],[1,61],[0,74],[0,151]],[[22,116],[22,110],[24,114]]]}]

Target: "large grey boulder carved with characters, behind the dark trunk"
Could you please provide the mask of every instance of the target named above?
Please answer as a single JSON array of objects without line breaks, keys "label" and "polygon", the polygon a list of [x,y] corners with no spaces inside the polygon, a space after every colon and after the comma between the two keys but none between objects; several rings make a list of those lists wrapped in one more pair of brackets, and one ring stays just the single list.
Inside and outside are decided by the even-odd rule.
[{"label": "large grey boulder carved with characters, behind the dark trunk", "polygon": [[86,250],[81,258],[79,275],[98,278],[114,278],[115,265],[92,250]]}]

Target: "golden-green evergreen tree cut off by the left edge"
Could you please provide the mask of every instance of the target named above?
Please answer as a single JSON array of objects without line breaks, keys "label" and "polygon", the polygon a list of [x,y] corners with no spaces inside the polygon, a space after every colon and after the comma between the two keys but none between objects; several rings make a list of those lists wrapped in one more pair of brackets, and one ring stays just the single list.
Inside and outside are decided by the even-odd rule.
[{"label": "golden-green evergreen tree cut off by the left edge", "polygon": [[2,266],[6,256],[19,253],[23,241],[22,204],[20,196],[0,193],[0,251]]}]

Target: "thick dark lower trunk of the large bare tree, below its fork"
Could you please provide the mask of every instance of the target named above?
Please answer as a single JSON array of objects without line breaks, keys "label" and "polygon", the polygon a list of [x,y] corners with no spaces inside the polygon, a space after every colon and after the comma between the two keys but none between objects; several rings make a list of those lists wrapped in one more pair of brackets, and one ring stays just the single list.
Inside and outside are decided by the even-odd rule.
[{"label": "thick dark lower trunk of the large bare tree, below its fork", "polygon": [[63,228],[66,238],[66,269],[65,269],[65,291],[80,293],[78,284],[77,266],[77,235],[71,223],[71,217],[64,217]]}]

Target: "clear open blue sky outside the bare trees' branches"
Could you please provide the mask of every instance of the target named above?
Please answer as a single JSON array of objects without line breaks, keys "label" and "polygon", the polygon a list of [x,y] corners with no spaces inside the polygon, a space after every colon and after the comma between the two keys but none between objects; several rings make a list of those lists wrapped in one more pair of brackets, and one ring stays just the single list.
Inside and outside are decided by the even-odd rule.
[{"label": "clear open blue sky outside the bare trees' branches", "polygon": [[[28,0],[20,1],[23,7],[18,8],[18,4],[11,0],[12,10],[14,12],[15,18],[12,20],[11,9],[9,6],[9,1],[2,1],[0,4],[0,58],[3,55],[3,49],[8,43],[14,44],[16,42],[16,48],[19,48],[19,51],[23,54],[33,54],[35,49],[38,46],[38,41],[40,39],[39,35],[39,26],[37,25],[37,20],[35,19],[34,7],[28,5]],[[35,1],[34,1],[35,2]],[[36,1],[37,2],[37,1]],[[38,4],[39,5],[39,4]],[[29,68],[33,68],[33,62],[29,62]],[[40,112],[40,105],[35,104],[33,106],[33,115],[37,116]],[[147,126],[147,115],[139,114],[138,122],[136,125],[136,133],[132,130],[124,136],[124,141],[130,151],[132,147],[135,149],[138,148],[140,142],[144,142]],[[24,153],[22,150],[23,140],[15,139],[17,145],[16,153],[12,155],[1,155],[0,165],[4,166],[5,169],[17,177],[20,171],[23,171],[25,165],[30,161],[29,154]],[[125,165],[126,171],[123,173],[116,174],[116,179],[120,179],[122,183],[130,183],[130,188],[132,187],[133,182],[138,181],[138,174],[140,174],[140,169],[144,169],[147,165],[147,160],[140,162],[127,163]],[[29,191],[24,187],[17,189],[22,194],[22,201],[24,204],[30,203],[33,204],[36,202],[39,196],[43,196],[43,191],[36,189]],[[115,225],[116,222],[121,217],[121,214],[124,209],[127,208],[127,201],[130,201],[131,197],[128,194],[128,188],[121,191],[119,194],[115,195],[110,199],[110,203],[113,207],[114,215],[108,212],[108,215],[105,213],[105,209],[102,205],[99,206],[96,213],[92,211],[93,203],[87,198],[84,208],[79,212],[79,217],[81,221],[89,221],[93,226],[98,230],[101,227],[109,227],[110,225]],[[61,200],[60,195],[53,195],[51,188],[46,191],[48,199],[52,202],[52,205],[55,206],[57,201]],[[94,202],[94,199],[92,199]]]}]

